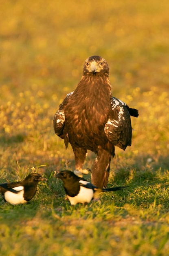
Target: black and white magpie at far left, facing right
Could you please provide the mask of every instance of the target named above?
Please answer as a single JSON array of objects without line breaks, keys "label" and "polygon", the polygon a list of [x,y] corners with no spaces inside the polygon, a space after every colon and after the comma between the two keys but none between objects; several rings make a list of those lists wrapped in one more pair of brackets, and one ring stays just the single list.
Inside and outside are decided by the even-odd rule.
[{"label": "black and white magpie at far left, facing right", "polygon": [[0,193],[10,204],[25,204],[30,201],[37,190],[37,183],[47,180],[38,173],[30,173],[24,180],[0,184]]}]

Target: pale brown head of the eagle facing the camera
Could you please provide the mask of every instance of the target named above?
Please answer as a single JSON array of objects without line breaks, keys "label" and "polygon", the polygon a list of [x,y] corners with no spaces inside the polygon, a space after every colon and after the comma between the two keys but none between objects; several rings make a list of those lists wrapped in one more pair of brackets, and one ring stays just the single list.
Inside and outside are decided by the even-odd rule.
[{"label": "pale brown head of the eagle facing the camera", "polygon": [[83,66],[83,75],[105,74],[109,75],[108,63],[101,56],[91,56],[86,59]]}]

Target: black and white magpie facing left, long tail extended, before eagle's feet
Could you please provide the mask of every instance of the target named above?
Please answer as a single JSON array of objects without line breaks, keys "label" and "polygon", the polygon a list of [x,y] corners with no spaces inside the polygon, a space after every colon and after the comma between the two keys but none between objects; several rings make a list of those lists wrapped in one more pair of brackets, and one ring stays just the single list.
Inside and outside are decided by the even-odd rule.
[{"label": "black and white magpie facing left, long tail extended, before eagle's feet", "polygon": [[88,204],[94,198],[94,193],[96,192],[117,191],[126,188],[126,186],[120,186],[99,189],[84,178],[78,177],[75,173],[68,170],[59,172],[55,177],[63,181],[64,189],[71,205],[78,203]]}]

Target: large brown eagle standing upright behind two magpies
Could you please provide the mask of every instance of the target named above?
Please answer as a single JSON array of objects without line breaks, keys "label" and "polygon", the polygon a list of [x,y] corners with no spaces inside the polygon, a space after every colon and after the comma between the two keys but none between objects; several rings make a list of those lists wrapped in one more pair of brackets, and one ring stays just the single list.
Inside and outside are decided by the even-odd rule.
[{"label": "large brown eagle standing upright behind two magpies", "polygon": [[125,150],[132,143],[130,115],[138,117],[138,110],[112,97],[105,59],[87,58],[77,88],[67,94],[53,120],[55,133],[64,139],[66,148],[68,143],[72,146],[77,175],[88,172],[83,170],[83,163],[87,150],[91,150],[97,154],[92,183],[100,188],[107,185],[114,146]]}]

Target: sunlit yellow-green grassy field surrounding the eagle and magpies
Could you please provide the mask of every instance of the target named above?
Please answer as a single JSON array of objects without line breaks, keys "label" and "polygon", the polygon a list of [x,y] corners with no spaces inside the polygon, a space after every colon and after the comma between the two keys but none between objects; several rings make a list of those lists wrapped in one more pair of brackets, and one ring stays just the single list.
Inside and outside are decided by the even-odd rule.
[{"label": "sunlit yellow-green grassy field surrounding the eagle and magpies", "polygon": [[[168,1],[3,1],[0,15],[0,182],[31,171],[48,177],[33,200],[0,197],[4,256],[169,254]],[[139,110],[132,146],[116,148],[98,202],[71,207],[55,171],[74,169],[54,134],[59,103],[85,59],[103,56],[115,97]],[[85,167],[94,159],[88,153]],[[90,175],[87,176],[90,180]]]}]

